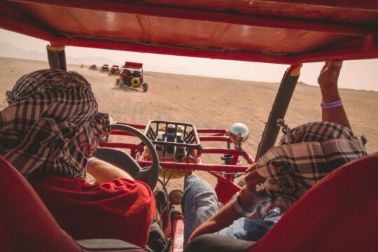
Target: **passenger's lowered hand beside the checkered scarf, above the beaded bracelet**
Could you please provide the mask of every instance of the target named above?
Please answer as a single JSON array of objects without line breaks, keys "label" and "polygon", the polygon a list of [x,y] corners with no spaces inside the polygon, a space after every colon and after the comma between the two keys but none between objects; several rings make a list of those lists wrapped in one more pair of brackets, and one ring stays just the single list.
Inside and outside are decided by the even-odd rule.
[{"label": "passenger's lowered hand beside the checkered scarf, above the beaded bracelet", "polygon": [[240,191],[240,206],[247,210],[253,211],[258,204],[267,197],[264,192],[256,192],[256,186],[265,181],[262,176],[258,175],[255,169],[256,163],[246,169],[246,185]]}]

